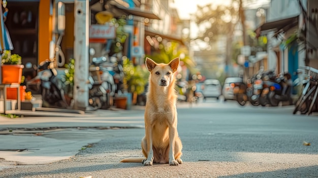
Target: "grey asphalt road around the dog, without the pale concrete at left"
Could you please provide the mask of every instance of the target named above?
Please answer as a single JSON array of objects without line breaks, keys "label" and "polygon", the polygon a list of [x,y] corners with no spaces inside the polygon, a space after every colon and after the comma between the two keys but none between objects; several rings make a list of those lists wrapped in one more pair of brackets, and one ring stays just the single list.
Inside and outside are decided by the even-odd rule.
[{"label": "grey asphalt road around the dog, without the pale concrete at left", "polygon": [[[180,104],[183,164],[179,166],[119,162],[142,157],[144,128],[44,134],[76,137],[89,131],[103,139],[70,159],[16,165],[0,170],[0,177],[318,177],[318,117],[292,115],[292,111],[293,106],[242,107],[212,99],[191,107]],[[114,117],[143,121],[143,110]]]}]

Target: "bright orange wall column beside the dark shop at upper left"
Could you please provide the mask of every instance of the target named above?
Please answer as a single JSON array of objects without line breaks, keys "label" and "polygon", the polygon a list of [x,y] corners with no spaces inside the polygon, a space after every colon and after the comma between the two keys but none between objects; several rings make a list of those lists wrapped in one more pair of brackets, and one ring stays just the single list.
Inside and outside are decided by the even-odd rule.
[{"label": "bright orange wall column beside the dark shop at upper left", "polygon": [[50,16],[50,1],[41,0],[39,5],[39,63],[49,58],[51,40],[52,16]]}]

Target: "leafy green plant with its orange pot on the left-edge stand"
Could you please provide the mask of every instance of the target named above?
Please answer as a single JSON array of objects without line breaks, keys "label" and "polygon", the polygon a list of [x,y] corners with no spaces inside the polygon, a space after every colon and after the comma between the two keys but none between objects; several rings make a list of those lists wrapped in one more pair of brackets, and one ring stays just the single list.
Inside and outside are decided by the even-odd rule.
[{"label": "leafy green plant with its orange pot on the left-edge stand", "polygon": [[1,71],[2,71],[2,83],[12,84],[21,83],[22,68],[21,56],[18,54],[11,54],[10,50],[4,51],[1,57]]}]

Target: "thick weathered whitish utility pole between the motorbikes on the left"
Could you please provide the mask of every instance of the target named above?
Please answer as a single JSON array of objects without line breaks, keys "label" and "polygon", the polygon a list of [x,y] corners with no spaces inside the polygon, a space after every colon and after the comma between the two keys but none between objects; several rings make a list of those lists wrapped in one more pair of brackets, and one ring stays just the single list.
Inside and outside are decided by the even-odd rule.
[{"label": "thick weathered whitish utility pole between the motorbikes on the left", "polygon": [[89,1],[74,1],[74,17],[74,109],[85,111],[88,106]]}]

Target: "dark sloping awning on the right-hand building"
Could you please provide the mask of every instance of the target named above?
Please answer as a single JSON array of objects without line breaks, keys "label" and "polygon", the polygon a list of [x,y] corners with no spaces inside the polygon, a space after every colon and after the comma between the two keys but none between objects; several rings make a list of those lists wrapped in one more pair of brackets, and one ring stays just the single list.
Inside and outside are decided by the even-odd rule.
[{"label": "dark sloping awning on the right-hand building", "polygon": [[279,34],[280,32],[286,32],[289,29],[295,27],[298,25],[298,19],[299,15],[287,19],[281,19],[281,20],[276,20],[272,22],[267,22],[264,23],[263,25],[259,26],[255,32],[256,32],[256,37],[260,37],[261,35],[265,35],[269,32],[274,31],[275,35]]}]

